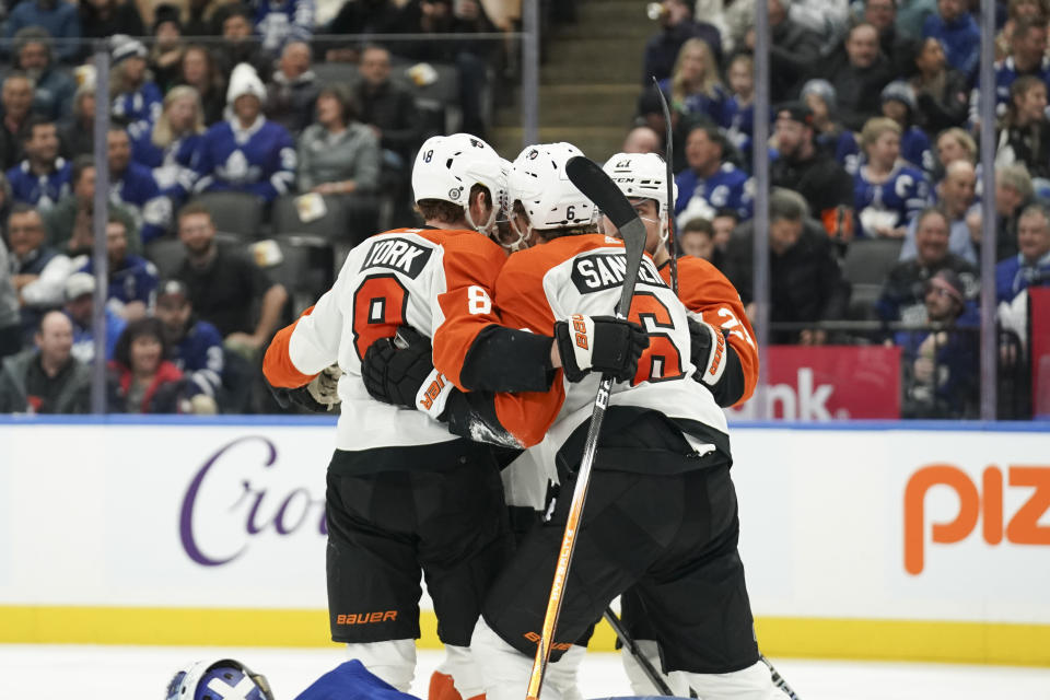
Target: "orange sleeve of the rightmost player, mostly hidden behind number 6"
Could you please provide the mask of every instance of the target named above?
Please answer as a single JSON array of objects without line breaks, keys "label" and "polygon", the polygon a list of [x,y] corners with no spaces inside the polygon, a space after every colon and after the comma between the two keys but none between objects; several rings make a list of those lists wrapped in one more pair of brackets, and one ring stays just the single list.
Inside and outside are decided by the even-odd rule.
[{"label": "orange sleeve of the rightmost player, mostly hidden behind number 6", "polygon": [[[670,266],[662,266],[660,276],[669,285]],[[758,384],[758,347],[739,293],[716,267],[687,255],[678,258],[678,298],[704,323],[728,334],[727,340],[744,371],[744,395],[734,404],[739,406],[751,397]]]}]

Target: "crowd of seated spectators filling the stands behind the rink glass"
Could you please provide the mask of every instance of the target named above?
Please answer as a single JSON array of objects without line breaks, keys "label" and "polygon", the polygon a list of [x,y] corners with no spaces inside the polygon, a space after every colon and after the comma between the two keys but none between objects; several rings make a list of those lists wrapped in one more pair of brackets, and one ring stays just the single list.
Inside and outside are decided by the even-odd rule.
[{"label": "crowd of seated spectators filling the stands behind the rink glass", "polygon": [[[757,144],[754,1],[655,3],[660,27],[640,57],[623,149],[664,152],[662,92],[675,135],[679,243],[722,269],[748,305],[750,165],[755,149],[768,150],[772,341],[897,345],[906,416],[976,416],[981,284],[995,287],[1010,370],[1025,365],[1025,290],[1050,282],[1050,2],[998,3],[996,152],[980,163],[975,2],[759,0],[772,34],[772,138]],[[249,196],[262,225],[272,213],[276,226],[289,207],[303,221],[345,211],[343,248],[381,226],[413,223],[416,149],[440,131],[487,135],[493,92],[513,77],[511,51],[481,39],[383,46],[353,37],[512,30],[514,4],[8,0],[0,357],[10,357],[0,411],[88,410],[97,98],[112,119],[103,164],[108,410],[268,410],[255,363],[301,310],[265,269],[265,250],[253,257],[228,245],[209,197]],[[556,20],[571,20],[572,9],[544,3]],[[108,95],[97,94],[89,60],[96,45],[85,39],[106,42]],[[318,77],[336,62],[352,68],[352,80]],[[427,84],[434,67],[457,78],[445,105],[452,118],[395,79]],[[993,192],[982,188],[988,167]],[[996,213],[994,280],[977,268],[982,197]],[[180,257],[162,275],[161,250],[172,244]],[[843,319],[883,326],[819,326]],[[1016,405],[1001,415],[1011,411],[1030,416]]]}]

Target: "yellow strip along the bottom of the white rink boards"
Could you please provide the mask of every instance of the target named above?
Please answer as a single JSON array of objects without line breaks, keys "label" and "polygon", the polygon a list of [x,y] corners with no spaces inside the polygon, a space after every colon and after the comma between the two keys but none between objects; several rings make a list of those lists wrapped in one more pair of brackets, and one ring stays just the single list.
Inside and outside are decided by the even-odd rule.
[{"label": "yellow strip along the bottom of the white rink boards", "polygon": [[[1050,666],[1050,625],[760,617],[767,656]],[[436,649],[432,610],[421,648]],[[604,621],[590,649],[612,651]],[[325,646],[325,610],[0,606],[0,643],[186,646]]]}]

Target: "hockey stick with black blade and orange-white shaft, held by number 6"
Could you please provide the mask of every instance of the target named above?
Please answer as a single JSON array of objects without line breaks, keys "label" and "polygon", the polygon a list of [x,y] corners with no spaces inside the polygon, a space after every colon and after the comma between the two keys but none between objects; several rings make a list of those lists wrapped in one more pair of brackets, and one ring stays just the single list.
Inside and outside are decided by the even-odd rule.
[{"label": "hockey stick with black blade and orange-white shaft, held by number 6", "polygon": [[[587,199],[600,209],[609,221],[620,231],[623,247],[627,253],[627,269],[623,272],[623,287],[620,290],[620,301],[616,305],[617,318],[626,318],[631,308],[631,299],[634,296],[634,282],[638,281],[638,268],[642,264],[642,253],[645,249],[645,224],[638,218],[638,212],[631,207],[620,188],[608,175],[591,160],[576,155],[565,163],[565,174],[572,184],[583,192]],[[536,644],[536,658],[533,661],[533,670],[528,678],[528,700],[538,700],[539,689],[544,685],[544,675],[550,661],[550,648],[555,641],[555,629],[558,627],[558,616],[561,612],[561,596],[569,579],[569,565],[572,563],[572,553],[576,548],[576,535],[580,521],[583,517],[583,504],[587,498],[587,485],[591,482],[591,467],[598,448],[598,433],[602,431],[602,421],[605,410],[609,406],[609,395],[612,392],[612,377],[602,376],[598,394],[594,399],[594,411],[591,413],[591,425],[587,428],[587,440],[583,447],[583,459],[580,471],[576,474],[576,486],[572,491],[572,501],[569,504],[569,515],[565,521],[565,532],[561,537],[561,549],[558,552],[558,565],[555,568],[555,580],[550,584],[550,596],[547,598],[547,612],[544,616],[544,627],[539,642]]]}]

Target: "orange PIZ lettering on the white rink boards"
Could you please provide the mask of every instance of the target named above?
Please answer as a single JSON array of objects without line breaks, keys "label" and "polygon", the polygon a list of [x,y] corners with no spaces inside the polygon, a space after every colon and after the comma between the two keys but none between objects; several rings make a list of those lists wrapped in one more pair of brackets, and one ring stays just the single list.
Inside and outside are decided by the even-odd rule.
[{"label": "orange PIZ lettering on the white rink boards", "polygon": [[[1039,520],[1050,510],[1050,466],[1011,465],[1006,469],[1011,487],[1035,489],[1010,522],[1003,513],[1003,470],[992,465],[981,475],[981,486],[962,469],[950,464],[932,464],[915,471],[905,488],[905,570],[922,573],[925,564],[926,492],[937,486],[955,491],[959,510],[947,523],[933,523],[931,541],[950,545],[966,539],[983,517],[981,534],[989,545],[1006,540],[1015,545],[1050,545],[1050,525]],[[983,493],[981,493],[983,491]]]}]

